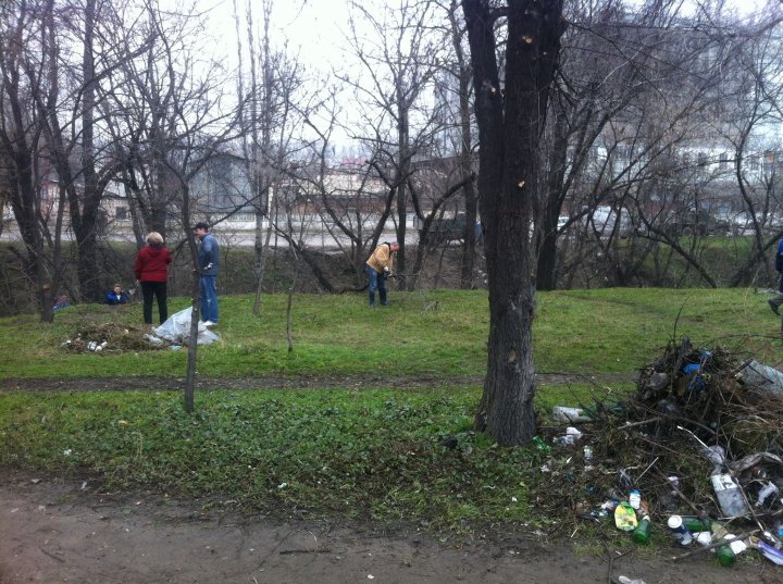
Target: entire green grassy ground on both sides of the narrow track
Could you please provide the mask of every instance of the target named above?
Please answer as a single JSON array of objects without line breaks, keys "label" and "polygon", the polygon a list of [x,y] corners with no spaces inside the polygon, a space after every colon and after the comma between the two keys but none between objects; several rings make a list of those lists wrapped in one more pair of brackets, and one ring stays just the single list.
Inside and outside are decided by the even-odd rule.
[{"label": "entire green grassy ground on both sides of the narrow track", "polygon": [[[485,293],[393,293],[369,310],[358,296],[298,296],[287,352],[283,296],[252,316],[249,297],[221,300],[221,344],[199,350],[210,377],[425,375],[418,389],[200,392],[186,414],[175,392],[134,392],[134,376],[182,376],[184,351],[76,355],[60,344],[86,323],[138,323],[138,305],[72,307],[52,326],[0,321],[0,378],[124,377],[125,392],[0,394],[0,465],[92,476],[109,488],[238,500],[247,509],[410,520],[436,529],[472,521],[546,525],[531,494],[546,452],[500,448],[471,431],[488,328]],[[543,413],[622,394],[669,338],[780,360],[779,321],[753,290],[604,289],[538,295],[536,369],[585,383],[538,388]],[[172,301],[172,311],[185,300]],[[600,378],[600,377],[598,377]],[[128,390],[129,389],[129,390]],[[448,439],[447,439],[448,438]]]}]

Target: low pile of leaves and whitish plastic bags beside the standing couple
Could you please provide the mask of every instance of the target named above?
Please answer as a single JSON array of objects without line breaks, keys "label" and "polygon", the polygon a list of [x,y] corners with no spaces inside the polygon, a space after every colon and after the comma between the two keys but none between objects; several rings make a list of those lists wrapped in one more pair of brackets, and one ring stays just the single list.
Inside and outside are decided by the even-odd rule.
[{"label": "low pile of leaves and whitish plastic bags beside the standing couple", "polygon": [[[75,352],[103,353],[179,349],[190,339],[190,308],[181,310],[158,327],[117,323],[88,324],[60,346]],[[220,340],[220,336],[199,322],[197,344],[209,345],[215,340]]]}]

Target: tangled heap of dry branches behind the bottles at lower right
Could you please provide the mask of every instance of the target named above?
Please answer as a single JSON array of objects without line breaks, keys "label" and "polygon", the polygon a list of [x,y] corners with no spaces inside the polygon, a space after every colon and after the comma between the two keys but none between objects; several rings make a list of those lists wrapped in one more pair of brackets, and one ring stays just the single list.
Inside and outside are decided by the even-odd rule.
[{"label": "tangled heap of dry branches behind the bottles at lower right", "polygon": [[654,518],[722,520],[710,475],[730,472],[750,510],[732,522],[776,532],[783,519],[783,393],[758,383],[763,374],[747,375],[755,365],[721,347],[671,341],[641,370],[634,395],[585,408],[591,421],[579,424],[583,437],[552,452],[538,504],[555,510],[566,500],[574,517],[596,518],[601,502],[626,500],[636,488]]}]

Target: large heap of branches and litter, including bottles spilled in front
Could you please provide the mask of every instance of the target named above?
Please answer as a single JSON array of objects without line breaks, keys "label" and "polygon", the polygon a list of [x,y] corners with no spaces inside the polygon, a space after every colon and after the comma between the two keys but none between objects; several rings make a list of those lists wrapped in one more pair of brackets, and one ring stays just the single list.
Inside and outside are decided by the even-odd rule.
[{"label": "large heap of branches and litter, including bottles spilled in front", "polygon": [[641,371],[634,395],[552,415],[568,427],[542,469],[544,507],[557,493],[579,520],[637,543],[664,533],[692,548],[675,559],[711,550],[728,566],[754,548],[783,566],[780,371],[683,338]]}]

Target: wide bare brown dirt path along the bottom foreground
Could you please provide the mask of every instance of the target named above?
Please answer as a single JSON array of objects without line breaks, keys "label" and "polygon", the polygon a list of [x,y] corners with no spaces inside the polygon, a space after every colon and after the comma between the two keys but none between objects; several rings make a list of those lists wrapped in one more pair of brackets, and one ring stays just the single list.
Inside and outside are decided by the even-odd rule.
[{"label": "wide bare brown dirt path along the bottom foreground", "polygon": [[[110,583],[607,583],[772,584],[783,568],[721,568],[705,554],[684,563],[635,554],[576,556],[570,542],[497,534],[449,545],[412,529],[276,522],[204,511],[204,501],[110,495],[82,482],[0,480],[0,582]],[[676,551],[676,550],[674,550]]]}]

